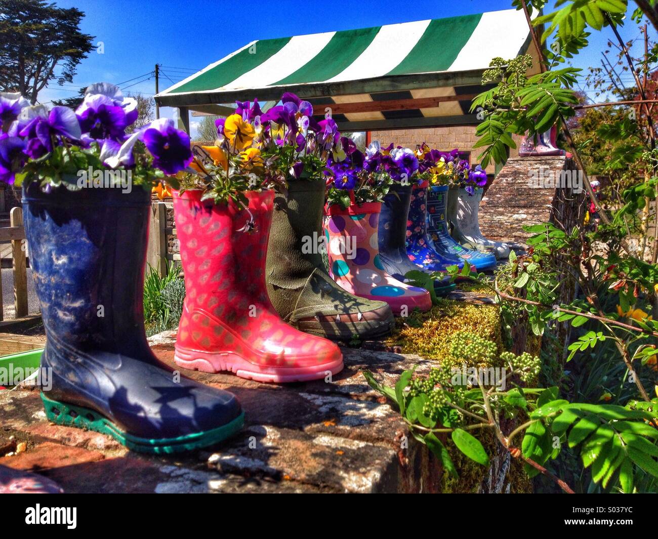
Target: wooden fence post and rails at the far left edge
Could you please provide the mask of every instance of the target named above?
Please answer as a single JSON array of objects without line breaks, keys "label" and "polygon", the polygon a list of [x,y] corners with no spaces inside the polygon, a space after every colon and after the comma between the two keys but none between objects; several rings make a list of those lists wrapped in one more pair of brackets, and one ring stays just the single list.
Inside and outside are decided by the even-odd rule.
[{"label": "wooden fence post and rails at the far left edge", "polygon": [[[11,258],[14,273],[14,318],[28,314],[28,270],[26,257],[28,244],[23,226],[23,211],[12,208],[9,213],[9,226],[0,228],[0,242],[11,241]],[[0,321],[5,319],[2,295],[2,278],[0,275]]]}]

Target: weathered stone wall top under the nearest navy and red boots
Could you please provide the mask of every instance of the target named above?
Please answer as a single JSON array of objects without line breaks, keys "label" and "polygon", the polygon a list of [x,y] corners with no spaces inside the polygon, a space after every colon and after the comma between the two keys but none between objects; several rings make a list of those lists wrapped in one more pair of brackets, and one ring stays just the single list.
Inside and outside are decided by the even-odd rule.
[{"label": "weathered stone wall top under the nearest navy and red boots", "polygon": [[[174,340],[175,332],[150,339],[172,366]],[[37,390],[1,390],[0,465],[41,473],[65,492],[436,492],[438,462],[406,438],[397,411],[360,372],[392,385],[405,369],[429,364],[378,347],[343,348],[345,369],[332,382],[284,386],[184,371],[234,392],[245,409],[238,436],[188,455],[141,455],[109,436],[56,426]]]}]

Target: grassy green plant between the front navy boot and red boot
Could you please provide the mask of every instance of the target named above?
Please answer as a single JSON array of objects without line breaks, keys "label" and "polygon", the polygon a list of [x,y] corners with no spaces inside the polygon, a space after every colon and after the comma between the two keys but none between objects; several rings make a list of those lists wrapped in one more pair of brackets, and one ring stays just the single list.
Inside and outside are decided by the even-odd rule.
[{"label": "grassy green plant between the front navy boot and red boot", "polygon": [[184,297],[185,283],[180,278],[180,267],[169,265],[166,275],[161,277],[149,265],[144,278],[144,323],[148,335],[171,329],[178,324]]}]

